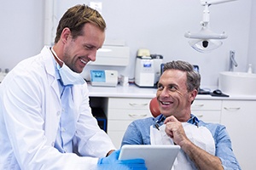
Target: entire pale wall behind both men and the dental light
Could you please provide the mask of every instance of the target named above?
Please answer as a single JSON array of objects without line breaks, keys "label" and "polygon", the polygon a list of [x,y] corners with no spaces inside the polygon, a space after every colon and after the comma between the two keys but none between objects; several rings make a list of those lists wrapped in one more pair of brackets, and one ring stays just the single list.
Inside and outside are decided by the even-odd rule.
[{"label": "entire pale wall behind both men and the dental light", "polygon": [[[82,0],[56,0],[58,17],[67,8]],[[126,67],[107,67],[118,70],[130,78],[134,77],[134,65],[138,48],[148,48],[151,54],[162,54],[164,62],[183,59],[201,69],[202,87],[218,86],[218,72],[227,71],[230,50],[236,51],[238,67],[235,71],[246,71],[248,62],[253,59],[253,45],[249,37],[255,37],[253,23],[253,0],[238,0],[210,7],[210,26],[212,31],[226,31],[229,37],[223,46],[209,54],[201,54],[189,47],[189,39],[183,37],[185,31],[197,32],[201,29],[203,7],[199,0],[111,0],[102,2],[102,15],[108,29],[108,39],[124,39],[131,48],[130,65]],[[13,68],[20,59],[38,54],[44,45],[44,1],[9,0],[1,2],[0,16],[0,68]],[[252,11],[252,13],[251,13]],[[255,18],[255,17],[254,17]],[[250,22],[252,28],[250,30]],[[250,33],[250,34],[249,34]],[[254,33],[254,34],[253,34]],[[254,41],[255,42],[255,41]],[[250,40],[253,44],[253,39]],[[251,47],[251,48],[250,48]],[[105,69],[102,66],[87,66]]]}]

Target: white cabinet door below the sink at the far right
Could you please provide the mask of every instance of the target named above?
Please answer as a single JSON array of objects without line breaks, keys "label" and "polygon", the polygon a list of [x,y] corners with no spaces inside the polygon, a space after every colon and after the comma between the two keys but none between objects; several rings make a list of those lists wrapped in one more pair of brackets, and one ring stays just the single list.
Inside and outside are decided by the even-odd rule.
[{"label": "white cabinet door below the sink at the far right", "polygon": [[227,127],[241,169],[255,169],[256,101],[224,100],[221,123]]}]

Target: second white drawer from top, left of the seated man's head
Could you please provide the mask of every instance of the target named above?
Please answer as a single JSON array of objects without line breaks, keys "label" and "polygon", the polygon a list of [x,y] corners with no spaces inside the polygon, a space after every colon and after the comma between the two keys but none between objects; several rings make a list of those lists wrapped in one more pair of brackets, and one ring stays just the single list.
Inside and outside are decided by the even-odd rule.
[{"label": "second white drawer from top, left of the seated man's head", "polygon": [[136,120],[152,116],[149,109],[145,110],[123,110],[110,109],[108,110],[108,120]]}]

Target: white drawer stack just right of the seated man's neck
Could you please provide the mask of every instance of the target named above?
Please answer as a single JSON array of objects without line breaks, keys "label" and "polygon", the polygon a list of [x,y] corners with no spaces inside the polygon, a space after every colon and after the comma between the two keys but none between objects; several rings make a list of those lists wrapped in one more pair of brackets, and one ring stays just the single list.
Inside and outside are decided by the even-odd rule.
[{"label": "white drawer stack just right of the seated man's neck", "polygon": [[195,99],[191,111],[204,122],[220,123],[221,100]]}]

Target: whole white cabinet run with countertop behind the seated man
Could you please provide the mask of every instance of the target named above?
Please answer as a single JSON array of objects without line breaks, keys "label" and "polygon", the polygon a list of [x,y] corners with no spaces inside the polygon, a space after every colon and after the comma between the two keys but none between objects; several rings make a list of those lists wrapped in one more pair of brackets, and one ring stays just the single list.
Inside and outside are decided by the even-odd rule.
[{"label": "whole white cabinet run with countertop behind the seated man", "polygon": [[[91,88],[91,87],[90,87]],[[108,135],[119,148],[127,126],[134,120],[151,116],[149,102],[156,89],[137,87],[90,89],[100,98],[92,100],[108,117]],[[255,169],[256,153],[256,97],[230,98],[198,95],[191,111],[204,122],[224,124],[230,134],[235,155],[243,170]]]}]

